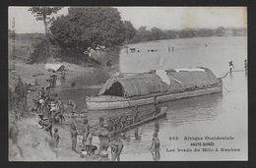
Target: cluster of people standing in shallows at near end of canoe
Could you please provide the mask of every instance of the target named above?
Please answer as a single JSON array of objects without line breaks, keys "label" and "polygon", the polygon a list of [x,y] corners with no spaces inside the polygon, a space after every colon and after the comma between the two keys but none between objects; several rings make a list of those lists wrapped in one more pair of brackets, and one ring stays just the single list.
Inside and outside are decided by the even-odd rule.
[{"label": "cluster of people standing in shallows at near end of canoe", "polygon": [[[103,118],[99,117],[98,132],[96,134],[99,140],[98,147],[93,144],[93,133],[91,132],[91,127],[87,118],[83,120],[82,130],[78,129],[78,126],[76,126],[75,122],[71,123],[70,135],[72,140],[72,151],[80,153],[82,157],[99,156],[100,158],[108,158],[107,149],[110,147],[111,160],[120,161],[120,154],[123,149],[123,143],[117,138],[117,136],[110,134],[110,132],[104,127],[103,122]],[[80,145],[78,145],[78,143],[80,143]],[[79,146],[82,146],[82,148]]]}]

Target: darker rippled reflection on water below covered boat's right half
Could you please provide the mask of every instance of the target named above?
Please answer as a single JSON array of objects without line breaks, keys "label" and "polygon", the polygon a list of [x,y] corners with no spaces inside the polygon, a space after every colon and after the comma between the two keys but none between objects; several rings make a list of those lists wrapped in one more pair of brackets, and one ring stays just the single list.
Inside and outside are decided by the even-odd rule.
[{"label": "darker rippled reflection on water below covered boat's right half", "polygon": [[214,120],[222,111],[222,93],[167,102],[168,123],[177,127],[184,123]]}]

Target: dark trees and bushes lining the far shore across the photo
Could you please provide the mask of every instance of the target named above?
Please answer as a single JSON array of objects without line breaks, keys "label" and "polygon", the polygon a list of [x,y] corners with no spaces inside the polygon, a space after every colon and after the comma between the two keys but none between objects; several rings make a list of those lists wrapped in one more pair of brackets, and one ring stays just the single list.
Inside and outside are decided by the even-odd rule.
[{"label": "dark trees and bushes lining the far shore across the photo", "polygon": [[[118,10],[111,7],[69,8],[68,15],[57,18],[50,15],[56,14],[60,7],[32,8],[29,10],[32,14],[40,14],[34,17],[38,22],[43,21],[45,33],[19,34],[8,31],[9,56],[15,55],[15,59],[30,64],[54,59],[84,66],[104,66],[109,60],[112,63],[118,62],[116,60],[120,48],[125,44],[162,39],[247,35],[247,28],[134,28],[130,21],[122,21]],[[41,17],[44,12],[48,15],[46,18]],[[92,54],[96,56],[92,57]],[[111,58],[107,55],[111,55]]]}]

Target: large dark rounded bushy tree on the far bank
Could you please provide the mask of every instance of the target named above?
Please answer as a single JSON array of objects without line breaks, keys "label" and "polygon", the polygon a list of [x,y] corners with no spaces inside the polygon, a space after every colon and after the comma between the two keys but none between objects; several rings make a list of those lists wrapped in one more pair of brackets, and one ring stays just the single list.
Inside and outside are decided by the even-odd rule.
[{"label": "large dark rounded bushy tree on the far bank", "polygon": [[49,29],[54,44],[80,56],[125,40],[125,27],[115,8],[69,8],[68,15],[58,17]]}]

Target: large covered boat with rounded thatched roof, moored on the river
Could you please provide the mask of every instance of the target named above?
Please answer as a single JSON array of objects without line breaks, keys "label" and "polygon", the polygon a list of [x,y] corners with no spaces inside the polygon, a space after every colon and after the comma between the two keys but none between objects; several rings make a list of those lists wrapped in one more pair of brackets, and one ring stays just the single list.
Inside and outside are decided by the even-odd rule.
[{"label": "large covered boat with rounded thatched roof, moored on the river", "polygon": [[88,110],[120,109],[222,90],[222,79],[207,68],[151,71],[112,77],[97,96],[86,97],[86,103]]}]

